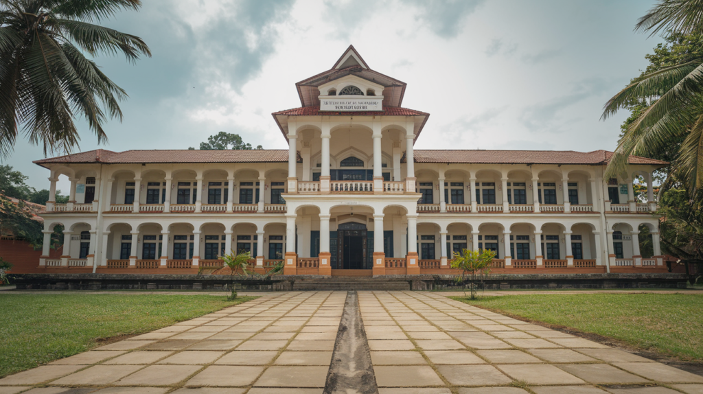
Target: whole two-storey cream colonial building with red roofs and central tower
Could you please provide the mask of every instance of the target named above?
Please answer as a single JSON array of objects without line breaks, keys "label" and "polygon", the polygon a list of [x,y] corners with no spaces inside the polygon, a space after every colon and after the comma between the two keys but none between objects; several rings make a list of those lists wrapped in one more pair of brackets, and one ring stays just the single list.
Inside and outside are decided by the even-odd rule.
[{"label": "whole two-storey cream colonial building with red roofs and central tower", "polygon": [[[493,249],[505,272],[662,269],[652,188],[636,198],[633,178],[651,185],[666,162],[631,157],[627,173],[605,179],[603,150],[415,149],[430,114],[402,107],[406,84],[352,46],[296,88],[302,106],[273,113],[287,151],[93,150],[35,162],[51,171],[41,272],[198,272],[235,250],[260,270],[283,260],[286,274],[449,272],[462,249]],[[68,204],[53,201],[60,176]],[[60,260],[49,258],[55,225]],[[654,249],[644,258],[642,225]]]}]

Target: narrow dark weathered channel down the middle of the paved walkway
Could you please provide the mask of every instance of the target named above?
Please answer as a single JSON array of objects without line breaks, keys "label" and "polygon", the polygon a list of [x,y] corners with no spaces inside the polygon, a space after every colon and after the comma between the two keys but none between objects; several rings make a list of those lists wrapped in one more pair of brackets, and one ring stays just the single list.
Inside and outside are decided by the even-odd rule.
[{"label": "narrow dark weathered channel down the middle of the paved walkway", "polygon": [[356,291],[347,291],[323,394],[378,394]]}]

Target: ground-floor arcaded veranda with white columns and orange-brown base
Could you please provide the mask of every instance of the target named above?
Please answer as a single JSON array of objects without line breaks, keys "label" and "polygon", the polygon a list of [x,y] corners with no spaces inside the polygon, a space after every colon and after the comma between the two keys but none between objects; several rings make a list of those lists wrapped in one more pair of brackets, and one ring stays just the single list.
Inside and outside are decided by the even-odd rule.
[{"label": "ground-floor arcaded veranda with white columns and orange-brown base", "polygon": [[[286,275],[441,274],[453,272],[454,254],[491,249],[494,272],[664,269],[652,216],[408,214],[413,206],[393,202],[297,204],[288,212],[294,214],[105,215],[100,226],[54,216],[46,218],[39,268],[216,272],[221,256],[236,251],[250,253],[249,268],[259,272],[283,262]],[[64,252],[51,259],[56,225],[63,225]]]}]

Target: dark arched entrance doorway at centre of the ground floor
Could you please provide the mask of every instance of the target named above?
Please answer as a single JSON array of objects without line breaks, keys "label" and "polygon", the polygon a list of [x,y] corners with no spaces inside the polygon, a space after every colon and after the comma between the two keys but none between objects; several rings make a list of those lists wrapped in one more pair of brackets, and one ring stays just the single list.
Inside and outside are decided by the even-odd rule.
[{"label": "dark arched entrance doorway at centre of the ground floor", "polygon": [[361,223],[337,226],[337,270],[367,269],[368,232]]}]

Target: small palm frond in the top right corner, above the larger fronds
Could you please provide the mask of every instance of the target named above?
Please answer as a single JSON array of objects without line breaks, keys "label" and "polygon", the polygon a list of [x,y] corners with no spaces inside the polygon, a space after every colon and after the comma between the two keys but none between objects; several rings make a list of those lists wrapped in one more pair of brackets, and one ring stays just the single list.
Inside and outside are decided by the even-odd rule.
[{"label": "small palm frond in the top right corner, above the larger fronds", "polygon": [[703,0],[659,0],[635,25],[635,31],[650,32],[650,37],[667,30],[703,32]]}]

